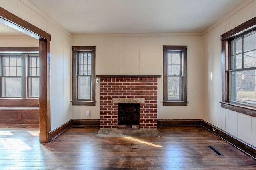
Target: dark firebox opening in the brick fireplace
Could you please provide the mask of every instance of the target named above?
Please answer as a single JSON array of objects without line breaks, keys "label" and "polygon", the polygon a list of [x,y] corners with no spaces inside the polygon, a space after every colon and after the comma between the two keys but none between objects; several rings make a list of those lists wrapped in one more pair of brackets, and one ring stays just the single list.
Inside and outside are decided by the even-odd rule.
[{"label": "dark firebox opening in the brick fireplace", "polygon": [[118,103],[118,125],[140,125],[140,104]]}]

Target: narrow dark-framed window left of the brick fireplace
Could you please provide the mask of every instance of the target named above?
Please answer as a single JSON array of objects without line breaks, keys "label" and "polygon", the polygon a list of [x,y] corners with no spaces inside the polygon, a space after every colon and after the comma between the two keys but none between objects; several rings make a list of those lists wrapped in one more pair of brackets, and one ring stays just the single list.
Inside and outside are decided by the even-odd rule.
[{"label": "narrow dark-framed window left of the brick fireplace", "polygon": [[95,46],[73,47],[72,105],[95,105]]}]

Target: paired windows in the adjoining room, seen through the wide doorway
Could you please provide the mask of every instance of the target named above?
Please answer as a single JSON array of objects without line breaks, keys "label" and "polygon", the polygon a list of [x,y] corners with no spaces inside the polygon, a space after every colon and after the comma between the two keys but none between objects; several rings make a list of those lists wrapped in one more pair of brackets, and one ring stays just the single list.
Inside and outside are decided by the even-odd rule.
[{"label": "paired windows in the adjoining room, seen through the wide doorway", "polygon": [[1,98],[38,98],[38,54],[6,53],[0,58]]}]

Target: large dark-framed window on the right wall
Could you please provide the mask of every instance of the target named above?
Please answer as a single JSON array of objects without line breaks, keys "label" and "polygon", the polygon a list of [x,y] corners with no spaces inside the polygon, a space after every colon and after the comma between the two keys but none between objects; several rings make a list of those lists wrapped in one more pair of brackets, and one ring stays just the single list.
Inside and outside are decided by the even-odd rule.
[{"label": "large dark-framed window on the right wall", "polygon": [[221,35],[221,106],[254,117],[256,117],[255,23],[256,18],[253,18]]}]

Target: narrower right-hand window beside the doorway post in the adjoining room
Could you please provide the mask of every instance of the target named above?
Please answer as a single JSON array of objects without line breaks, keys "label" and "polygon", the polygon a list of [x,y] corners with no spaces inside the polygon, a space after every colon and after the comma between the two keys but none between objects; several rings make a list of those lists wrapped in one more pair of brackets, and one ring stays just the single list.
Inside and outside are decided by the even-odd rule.
[{"label": "narrower right-hand window beside the doorway post in the adjoining room", "polygon": [[28,56],[28,98],[39,97],[39,56]]}]

